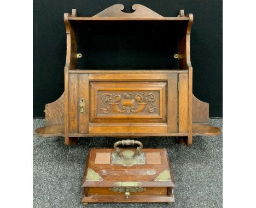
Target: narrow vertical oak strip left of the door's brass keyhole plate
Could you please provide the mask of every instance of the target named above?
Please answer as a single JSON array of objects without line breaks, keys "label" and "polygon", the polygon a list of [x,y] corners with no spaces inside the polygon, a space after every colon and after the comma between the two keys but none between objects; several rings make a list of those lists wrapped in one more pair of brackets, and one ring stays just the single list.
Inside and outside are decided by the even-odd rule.
[{"label": "narrow vertical oak strip left of the door's brass keyhole plate", "polygon": [[78,74],[69,74],[69,133],[78,130]]}]

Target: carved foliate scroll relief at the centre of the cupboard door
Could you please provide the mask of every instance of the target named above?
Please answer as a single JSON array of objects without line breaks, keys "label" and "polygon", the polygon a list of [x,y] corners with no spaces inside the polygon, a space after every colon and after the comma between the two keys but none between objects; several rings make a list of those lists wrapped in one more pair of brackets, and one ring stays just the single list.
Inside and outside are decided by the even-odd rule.
[{"label": "carved foliate scroll relief at the centre of the cupboard door", "polygon": [[156,92],[104,92],[99,97],[101,104],[103,105],[100,109],[104,114],[110,112],[115,113],[153,113],[158,111],[156,106],[156,97],[159,98],[159,93]]}]

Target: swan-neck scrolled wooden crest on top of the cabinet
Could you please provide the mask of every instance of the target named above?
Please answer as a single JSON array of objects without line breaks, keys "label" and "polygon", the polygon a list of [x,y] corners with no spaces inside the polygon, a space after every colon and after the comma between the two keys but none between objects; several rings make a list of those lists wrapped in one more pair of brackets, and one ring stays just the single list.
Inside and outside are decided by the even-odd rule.
[{"label": "swan-neck scrolled wooden crest on top of the cabinet", "polygon": [[92,16],[92,17],[128,17],[128,18],[155,18],[155,17],[163,17],[155,11],[141,5],[141,4],[133,4],[132,10],[133,13],[124,13],[123,4],[114,4],[107,9],[104,9],[100,13]]}]

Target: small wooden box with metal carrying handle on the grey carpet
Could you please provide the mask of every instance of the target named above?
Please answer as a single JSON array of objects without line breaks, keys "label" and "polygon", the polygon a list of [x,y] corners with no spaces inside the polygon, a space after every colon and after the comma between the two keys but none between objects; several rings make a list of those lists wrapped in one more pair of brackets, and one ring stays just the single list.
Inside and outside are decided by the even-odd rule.
[{"label": "small wooden box with metal carrying handle on the grey carpet", "polygon": [[[137,149],[117,146],[139,144]],[[83,178],[82,203],[174,201],[174,179],[165,149],[142,149],[123,140],[114,149],[90,149]]]}]

